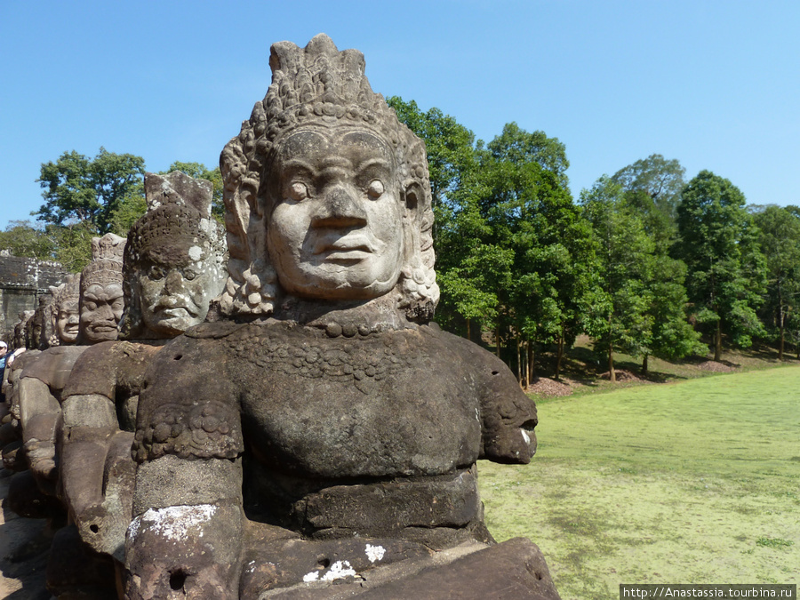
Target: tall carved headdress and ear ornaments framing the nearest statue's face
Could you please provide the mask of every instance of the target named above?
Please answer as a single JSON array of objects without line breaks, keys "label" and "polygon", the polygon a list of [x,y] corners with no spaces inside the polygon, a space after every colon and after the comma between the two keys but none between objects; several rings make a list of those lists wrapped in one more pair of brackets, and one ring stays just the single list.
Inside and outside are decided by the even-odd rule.
[{"label": "tall carved headdress and ear ornaments framing the nearest statue's face", "polygon": [[230,252],[228,283],[220,298],[223,312],[266,315],[275,307],[278,284],[267,249],[271,207],[264,203],[264,190],[280,140],[301,126],[348,125],[386,140],[396,156],[400,187],[414,196],[409,203],[416,204],[415,230],[409,238],[413,247],[397,289],[408,316],[430,318],[439,289],[425,144],[397,120],[383,96],[372,92],[361,52],[339,52],[330,37],[320,34],[304,49],[291,42],[274,44],[269,66],[272,84],[267,96],[256,102],[250,119],[220,156]]}]

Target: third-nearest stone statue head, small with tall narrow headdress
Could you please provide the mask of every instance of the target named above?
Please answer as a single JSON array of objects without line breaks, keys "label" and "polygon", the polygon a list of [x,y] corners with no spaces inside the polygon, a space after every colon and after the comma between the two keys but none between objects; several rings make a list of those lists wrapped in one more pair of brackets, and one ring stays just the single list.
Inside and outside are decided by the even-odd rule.
[{"label": "third-nearest stone statue head, small with tall narrow headdress", "polygon": [[92,237],[92,261],[81,271],[79,338],[84,344],[116,340],[124,308],[124,247],[124,237]]}]

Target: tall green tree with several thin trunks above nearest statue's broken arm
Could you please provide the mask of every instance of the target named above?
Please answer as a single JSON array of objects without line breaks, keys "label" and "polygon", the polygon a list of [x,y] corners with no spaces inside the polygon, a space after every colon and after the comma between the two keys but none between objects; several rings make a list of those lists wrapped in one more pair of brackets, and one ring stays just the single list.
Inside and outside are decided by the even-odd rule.
[{"label": "tall green tree with several thin trunks above nearest statue's broken arm", "polygon": [[[488,193],[484,217],[495,244],[513,249],[506,306],[507,331],[516,339],[521,381],[534,377],[535,351],[556,346],[556,379],[564,349],[580,332],[580,306],[592,284],[591,229],[572,200],[564,144],[545,132],[506,124],[481,155]],[[500,336],[498,336],[500,337]]]}]

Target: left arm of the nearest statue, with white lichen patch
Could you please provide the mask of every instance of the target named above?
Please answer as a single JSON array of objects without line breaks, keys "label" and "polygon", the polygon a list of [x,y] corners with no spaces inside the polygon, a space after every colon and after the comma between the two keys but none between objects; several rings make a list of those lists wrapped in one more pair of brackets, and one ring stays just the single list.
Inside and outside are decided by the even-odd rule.
[{"label": "left arm of the nearest statue, with white lichen patch", "polygon": [[190,598],[238,598],[241,418],[222,378],[198,371],[172,372],[174,385],[140,396],[125,542],[129,600],[172,597],[177,589]]}]

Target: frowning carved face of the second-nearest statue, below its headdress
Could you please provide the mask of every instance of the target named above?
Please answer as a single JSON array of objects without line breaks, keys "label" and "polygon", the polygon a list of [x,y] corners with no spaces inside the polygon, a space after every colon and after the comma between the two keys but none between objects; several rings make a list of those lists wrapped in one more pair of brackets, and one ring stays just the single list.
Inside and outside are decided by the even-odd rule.
[{"label": "frowning carved face of the second-nearest statue, below its headdress", "polygon": [[140,268],[135,284],[149,330],[172,337],[202,323],[208,314],[213,295],[213,257],[198,246],[189,249],[189,253],[192,251],[200,260],[183,265],[150,262]]}]

